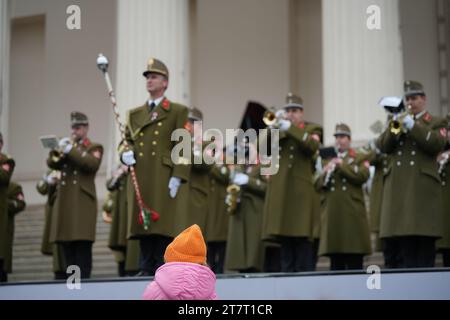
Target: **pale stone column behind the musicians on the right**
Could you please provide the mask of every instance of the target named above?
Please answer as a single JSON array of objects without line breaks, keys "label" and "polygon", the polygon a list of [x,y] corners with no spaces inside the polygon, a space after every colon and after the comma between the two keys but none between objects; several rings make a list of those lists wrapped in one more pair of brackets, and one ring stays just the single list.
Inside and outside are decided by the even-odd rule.
[{"label": "pale stone column behind the musicians on the right", "polygon": [[380,97],[403,94],[398,0],[323,0],[322,21],[325,143],[336,122],[355,143],[373,138],[370,125],[386,118]]}]

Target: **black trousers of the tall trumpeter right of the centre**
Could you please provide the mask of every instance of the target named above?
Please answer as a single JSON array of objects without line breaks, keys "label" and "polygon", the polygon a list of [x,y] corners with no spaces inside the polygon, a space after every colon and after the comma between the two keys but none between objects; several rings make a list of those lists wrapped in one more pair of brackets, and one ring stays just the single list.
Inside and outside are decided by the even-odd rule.
[{"label": "black trousers of the tall trumpeter right of the centre", "polygon": [[313,271],[313,243],[306,237],[280,237],[281,272]]}]

